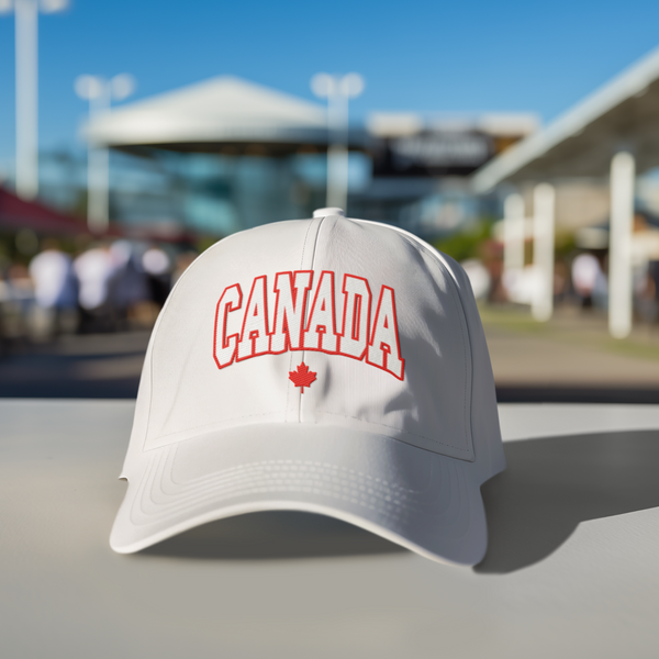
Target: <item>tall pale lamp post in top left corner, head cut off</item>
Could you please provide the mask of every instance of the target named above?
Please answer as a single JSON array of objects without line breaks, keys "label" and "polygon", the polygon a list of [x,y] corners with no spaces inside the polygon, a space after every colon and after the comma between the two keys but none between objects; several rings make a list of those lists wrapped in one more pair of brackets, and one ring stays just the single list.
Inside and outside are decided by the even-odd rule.
[{"label": "tall pale lamp post in top left corner, head cut off", "polygon": [[68,0],[0,0],[0,14],[14,12],[16,58],[16,193],[38,192],[38,12],[56,13]]}]

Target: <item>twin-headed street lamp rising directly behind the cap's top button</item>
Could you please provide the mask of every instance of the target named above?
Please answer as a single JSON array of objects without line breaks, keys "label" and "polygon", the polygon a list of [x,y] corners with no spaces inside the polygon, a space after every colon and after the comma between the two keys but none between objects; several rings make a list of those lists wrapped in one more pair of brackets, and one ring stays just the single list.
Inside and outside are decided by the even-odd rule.
[{"label": "twin-headed street lamp rising directly behind the cap's top button", "polygon": [[348,99],[364,91],[359,74],[343,77],[316,74],[311,79],[315,96],[327,99],[327,206],[346,210],[348,201]]}]

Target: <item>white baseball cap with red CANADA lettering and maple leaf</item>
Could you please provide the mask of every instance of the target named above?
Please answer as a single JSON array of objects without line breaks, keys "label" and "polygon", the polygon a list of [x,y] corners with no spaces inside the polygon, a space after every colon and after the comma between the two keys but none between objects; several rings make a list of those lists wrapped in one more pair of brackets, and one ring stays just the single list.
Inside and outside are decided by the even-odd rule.
[{"label": "white baseball cap with red CANADA lettering and maple leaf", "polygon": [[404,231],[322,209],[204,252],[146,354],[115,551],[243,513],[338,517],[434,560],[487,548],[505,467],[469,280]]}]

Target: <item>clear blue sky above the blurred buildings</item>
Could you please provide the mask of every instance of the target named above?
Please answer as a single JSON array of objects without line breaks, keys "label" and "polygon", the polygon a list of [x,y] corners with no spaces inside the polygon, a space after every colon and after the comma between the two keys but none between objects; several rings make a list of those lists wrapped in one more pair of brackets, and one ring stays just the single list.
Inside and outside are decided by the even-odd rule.
[{"label": "clear blue sky above the blurred buildings", "polygon": [[[312,99],[364,75],[373,110],[532,111],[547,121],[659,44],[659,2],[71,0],[40,19],[40,143],[79,146],[80,74],[127,71],[131,100],[222,74]],[[0,164],[13,158],[13,16],[0,15]]]}]

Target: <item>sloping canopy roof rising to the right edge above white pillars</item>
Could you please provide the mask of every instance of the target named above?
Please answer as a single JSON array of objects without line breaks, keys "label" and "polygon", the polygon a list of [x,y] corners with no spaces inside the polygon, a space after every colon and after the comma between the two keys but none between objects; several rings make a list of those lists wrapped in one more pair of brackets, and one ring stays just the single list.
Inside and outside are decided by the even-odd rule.
[{"label": "sloping canopy roof rising to the right edge above white pillars", "polygon": [[472,183],[487,192],[503,181],[605,176],[623,149],[638,171],[659,165],[659,48],[481,167]]}]

